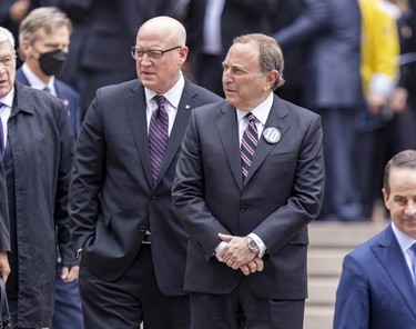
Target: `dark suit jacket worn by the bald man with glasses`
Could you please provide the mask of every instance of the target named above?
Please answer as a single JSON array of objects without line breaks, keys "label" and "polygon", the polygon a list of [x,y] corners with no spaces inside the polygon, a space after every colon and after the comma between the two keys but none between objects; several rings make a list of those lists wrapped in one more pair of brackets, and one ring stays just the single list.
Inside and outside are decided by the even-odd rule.
[{"label": "dark suit jacket worn by the bald man with glasses", "polygon": [[171,186],[191,110],[221,100],[185,80],[160,178],[153,183],[144,88],[139,80],[97,91],[78,139],[70,190],[81,266],[102,280],[131,266],[146,230],[161,291],[183,292],[186,235],[172,211]]}]

